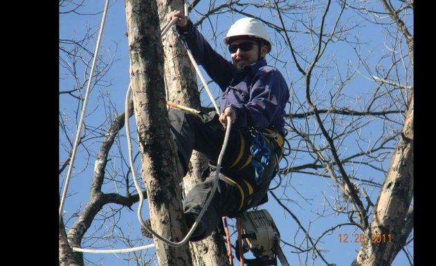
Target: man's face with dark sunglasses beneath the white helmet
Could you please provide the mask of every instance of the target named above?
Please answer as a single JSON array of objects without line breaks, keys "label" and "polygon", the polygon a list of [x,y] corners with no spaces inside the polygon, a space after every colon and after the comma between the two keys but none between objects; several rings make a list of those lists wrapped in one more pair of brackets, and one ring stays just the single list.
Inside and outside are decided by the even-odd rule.
[{"label": "man's face with dark sunglasses beneath the white helmet", "polygon": [[[257,45],[257,42],[246,39],[237,39],[230,44],[230,50],[231,48],[233,48],[233,51],[230,51],[232,54],[233,65],[237,71],[242,71],[244,67],[257,62],[257,56],[259,55],[259,46]],[[249,50],[247,50],[248,48]],[[266,46],[262,46],[261,57],[265,57],[266,49]]]}]

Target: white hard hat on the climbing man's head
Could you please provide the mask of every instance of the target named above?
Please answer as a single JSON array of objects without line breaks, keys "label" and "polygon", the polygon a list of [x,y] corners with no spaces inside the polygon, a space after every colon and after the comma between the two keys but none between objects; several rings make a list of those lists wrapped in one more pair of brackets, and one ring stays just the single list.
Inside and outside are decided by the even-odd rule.
[{"label": "white hard hat on the climbing man's head", "polygon": [[269,53],[271,51],[271,41],[269,40],[268,33],[266,33],[266,28],[257,19],[251,17],[244,17],[238,19],[228,30],[226,37],[224,37],[224,44],[228,45],[228,41],[233,39],[233,37],[255,37],[263,39],[268,45]]}]

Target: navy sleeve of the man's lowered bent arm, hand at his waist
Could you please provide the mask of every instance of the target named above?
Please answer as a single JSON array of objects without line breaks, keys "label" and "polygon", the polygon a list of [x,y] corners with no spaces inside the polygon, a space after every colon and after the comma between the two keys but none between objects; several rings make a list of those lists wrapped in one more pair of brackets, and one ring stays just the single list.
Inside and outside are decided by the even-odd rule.
[{"label": "navy sleeve of the man's lowered bent arm, hand at his waist", "polygon": [[235,125],[237,127],[264,128],[282,107],[287,84],[282,74],[273,69],[260,69],[251,83],[248,103],[232,103],[230,107],[236,111]]}]

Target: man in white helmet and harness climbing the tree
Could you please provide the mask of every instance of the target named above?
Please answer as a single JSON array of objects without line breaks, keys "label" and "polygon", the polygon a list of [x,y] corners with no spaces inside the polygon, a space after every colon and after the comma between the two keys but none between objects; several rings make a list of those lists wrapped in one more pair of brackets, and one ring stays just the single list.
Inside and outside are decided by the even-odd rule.
[{"label": "man in white helmet and harness climbing the tree", "polygon": [[195,60],[221,88],[221,115],[170,111],[174,141],[178,149],[181,176],[188,171],[192,150],[210,160],[203,172],[207,177],[190,190],[185,198],[188,228],[197,219],[210,195],[216,175],[216,163],[224,141],[226,118],[232,129],[219,171],[218,188],[199,222],[192,241],[206,238],[221,222],[222,216],[235,217],[266,202],[271,179],[282,157],[284,108],[289,100],[287,82],[278,69],[267,66],[271,51],[266,28],[256,19],[239,19],[228,30],[224,43],[232,61],[212,49],[192,21],[180,11],[167,19],[179,18],[176,29]]}]

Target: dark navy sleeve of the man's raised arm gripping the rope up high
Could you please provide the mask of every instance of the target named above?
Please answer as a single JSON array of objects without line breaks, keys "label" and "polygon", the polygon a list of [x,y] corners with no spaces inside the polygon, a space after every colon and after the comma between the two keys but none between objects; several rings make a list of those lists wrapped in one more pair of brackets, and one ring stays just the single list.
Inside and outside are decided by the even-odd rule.
[{"label": "dark navy sleeve of the man's raised arm gripping the rope up high", "polygon": [[179,36],[191,51],[197,64],[201,65],[210,78],[224,91],[233,78],[233,65],[210,46],[189,19],[188,24],[188,30],[185,32],[177,27]]}]

